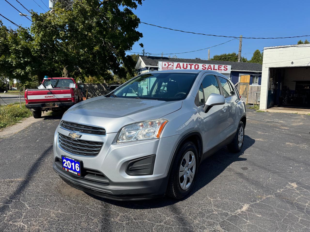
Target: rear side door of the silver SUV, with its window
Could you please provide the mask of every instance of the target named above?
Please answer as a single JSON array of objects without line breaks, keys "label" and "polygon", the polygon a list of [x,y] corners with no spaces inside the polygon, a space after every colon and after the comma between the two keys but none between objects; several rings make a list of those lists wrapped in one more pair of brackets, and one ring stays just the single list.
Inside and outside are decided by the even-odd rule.
[{"label": "rear side door of the silver SUV, with its window", "polygon": [[[225,97],[225,106],[227,107],[227,121],[226,121],[226,129],[225,134],[226,138],[230,135],[236,133],[236,111],[237,111],[237,103],[239,101],[238,97],[236,96],[236,92],[232,87],[231,82],[222,77],[218,76],[219,82],[221,83],[223,94]],[[239,122],[238,122],[239,123]]]}]

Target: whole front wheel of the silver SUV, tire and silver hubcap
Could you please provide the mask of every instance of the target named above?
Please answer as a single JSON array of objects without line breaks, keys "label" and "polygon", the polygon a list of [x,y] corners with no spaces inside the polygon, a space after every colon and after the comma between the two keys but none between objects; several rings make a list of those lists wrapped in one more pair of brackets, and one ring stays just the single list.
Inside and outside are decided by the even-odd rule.
[{"label": "whole front wheel of the silver SUV, tire and silver hubcap", "polygon": [[191,141],[185,142],[180,147],[169,178],[168,196],[179,200],[191,192],[197,175],[197,154],[197,148]]}]

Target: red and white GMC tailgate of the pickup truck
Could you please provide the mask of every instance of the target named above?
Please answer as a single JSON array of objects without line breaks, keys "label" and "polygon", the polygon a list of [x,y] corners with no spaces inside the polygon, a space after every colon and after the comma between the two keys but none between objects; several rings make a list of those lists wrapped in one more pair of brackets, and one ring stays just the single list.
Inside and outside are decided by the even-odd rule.
[{"label": "red and white GMC tailgate of the pickup truck", "polygon": [[27,99],[31,103],[44,103],[44,102],[65,102],[71,101],[70,88],[59,89],[28,89]]}]

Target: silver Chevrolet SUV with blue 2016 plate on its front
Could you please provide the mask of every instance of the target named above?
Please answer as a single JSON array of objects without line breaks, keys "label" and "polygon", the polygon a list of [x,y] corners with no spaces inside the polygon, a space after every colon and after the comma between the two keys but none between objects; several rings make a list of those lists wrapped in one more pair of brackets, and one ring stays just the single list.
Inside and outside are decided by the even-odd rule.
[{"label": "silver Chevrolet SUV with blue 2016 plate on its front", "polygon": [[243,145],[246,108],[214,71],[139,75],[72,106],[54,136],[53,168],[69,185],[116,200],[182,199],[225,145]]}]

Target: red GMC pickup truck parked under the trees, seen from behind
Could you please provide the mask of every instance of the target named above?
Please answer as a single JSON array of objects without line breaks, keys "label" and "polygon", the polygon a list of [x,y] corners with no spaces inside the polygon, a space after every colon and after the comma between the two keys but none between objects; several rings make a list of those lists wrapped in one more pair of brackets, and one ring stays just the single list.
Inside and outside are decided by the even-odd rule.
[{"label": "red GMC pickup truck parked under the trees, seen from behind", "polygon": [[33,118],[41,118],[42,111],[69,109],[83,101],[82,93],[73,78],[44,78],[41,89],[25,91],[26,107]]}]

